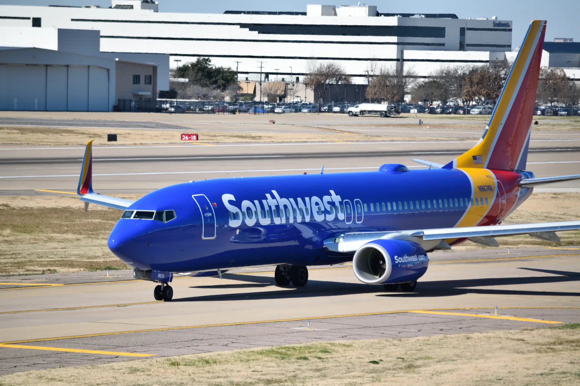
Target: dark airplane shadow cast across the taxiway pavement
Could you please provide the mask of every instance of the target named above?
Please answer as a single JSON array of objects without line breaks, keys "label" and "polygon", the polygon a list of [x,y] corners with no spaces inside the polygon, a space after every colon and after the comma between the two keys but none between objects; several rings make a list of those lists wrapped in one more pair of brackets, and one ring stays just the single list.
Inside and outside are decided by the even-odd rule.
[{"label": "dark airplane shadow cast across the taxiway pavement", "polygon": [[[555,291],[532,291],[518,289],[492,289],[492,288],[473,288],[473,287],[492,287],[507,285],[525,285],[525,284],[548,284],[548,283],[565,283],[580,281],[580,272],[539,270],[536,268],[519,268],[521,270],[543,272],[546,274],[559,276],[525,276],[516,278],[485,278],[485,279],[462,279],[448,281],[430,281],[419,282],[415,292],[390,292],[379,293],[376,296],[382,297],[440,297],[440,296],[457,296],[462,294],[496,294],[496,295],[525,295],[525,296],[579,296],[580,292],[555,292]],[[194,286],[196,288],[211,289],[241,289],[252,287],[275,286],[274,278],[268,276],[252,275],[227,275],[227,279],[250,282],[250,284],[225,284],[215,286]],[[251,284],[253,282],[253,284]],[[287,289],[247,292],[247,293],[229,293],[216,294],[209,296],[193,296],[186,298],[173,299],[173,301],[222,301],[222,300],[261,300],[273,298],[296,298],[296,297],[321,297],[337,296],[353,293],[376,293],[384,292],[382,286],[366,285],[363,283],[344,283],[331,281],[311,280],[305,287],[288,287]]]}]

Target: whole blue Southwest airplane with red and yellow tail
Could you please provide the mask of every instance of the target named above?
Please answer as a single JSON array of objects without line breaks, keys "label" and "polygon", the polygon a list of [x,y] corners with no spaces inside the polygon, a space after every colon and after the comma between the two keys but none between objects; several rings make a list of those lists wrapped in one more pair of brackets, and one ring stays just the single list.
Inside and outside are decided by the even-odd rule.
[{"label": "whole blue Southwest airplane with red and yellow tail", "polygon": [[93,192],[90,141],[77,193],[85,209],[124,210],[108,247],[135,278],[159,283],[154,297],[165,301],[174,275],[277,265],[277,285],[304,286],[307,266],[347,261],[363,283],[413,291],[427,252],[508,235],[558,242],[556,231],[580,221],[501,225],[534,186],[580,179],[525,170],[545,30],[532,21],[481,140],[447,165],[192,181],[128,201]]}]

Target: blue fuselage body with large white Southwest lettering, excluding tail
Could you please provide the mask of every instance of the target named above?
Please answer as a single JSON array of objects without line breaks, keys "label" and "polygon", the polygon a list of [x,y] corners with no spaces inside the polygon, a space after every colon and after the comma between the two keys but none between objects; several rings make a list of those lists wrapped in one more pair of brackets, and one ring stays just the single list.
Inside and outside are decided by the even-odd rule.
[{"label": "blue fuselage body with large white Southwest lettering, excluding tail", "polygon": [[352,255],[325,250],[325,239],[353,231],[454,227],[477,196],[463,170],[396,169],[385,165],[378,172],[172,185],[147,194],[128,210],[173,210],[175,219],[120,219],[108,245],[140,270],[336,264]]}]

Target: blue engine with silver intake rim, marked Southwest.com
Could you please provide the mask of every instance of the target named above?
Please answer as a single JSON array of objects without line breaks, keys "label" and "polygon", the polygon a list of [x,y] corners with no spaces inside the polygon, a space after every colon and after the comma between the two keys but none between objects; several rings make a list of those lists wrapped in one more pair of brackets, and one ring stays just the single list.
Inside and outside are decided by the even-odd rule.
[{"label": "blue engine with silver intake rim, marked Southwest.com", "polygon": [[418,244],[379,239],[361,246],[354,254],[357,279],[365,284],[414,282],[425,275],[429,258]]}]

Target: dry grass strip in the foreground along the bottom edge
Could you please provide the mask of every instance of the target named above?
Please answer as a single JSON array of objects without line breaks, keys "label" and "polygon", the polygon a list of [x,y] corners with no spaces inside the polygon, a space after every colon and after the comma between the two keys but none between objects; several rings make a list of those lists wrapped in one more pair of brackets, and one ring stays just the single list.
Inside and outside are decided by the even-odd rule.
[{"label": "dry grass strip in the foreground along the bottom edge", "polygon": [[338,341],[10,374],[2,385],[578,385],[580,325]]}]

